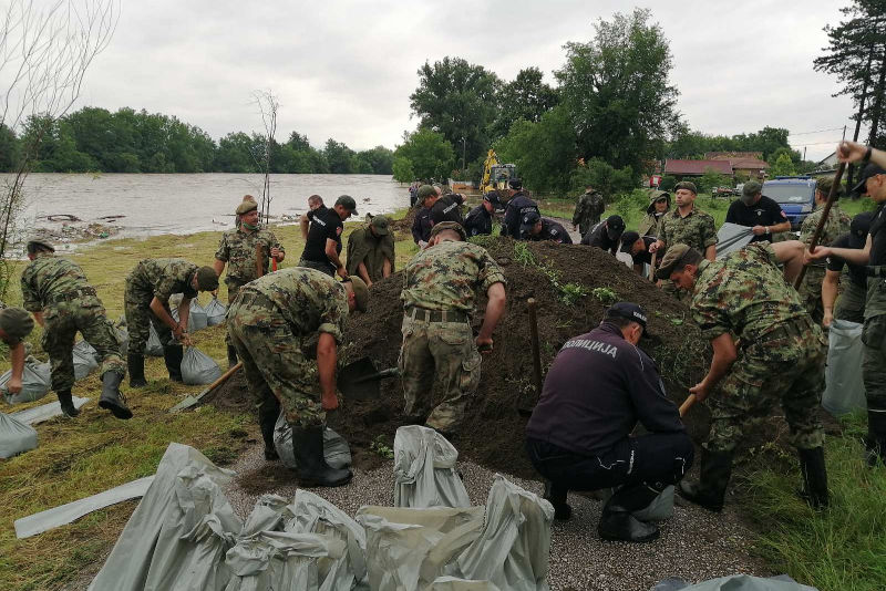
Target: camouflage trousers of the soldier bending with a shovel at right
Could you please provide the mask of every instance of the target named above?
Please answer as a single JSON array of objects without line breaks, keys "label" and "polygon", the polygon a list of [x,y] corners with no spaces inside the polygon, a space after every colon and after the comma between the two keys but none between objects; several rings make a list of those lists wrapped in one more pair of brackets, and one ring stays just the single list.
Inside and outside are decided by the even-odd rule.
[{"label": "camouflage trousers of the soldier bending with a shovel at right", "polygon": [[731,453],[745,429],[769,416],[780,402],[797,449],[824,444],[817,408],[824,390],[824,336],[817,324],[793,320],[762,342],[742,349],[717,392],[708,398],[711,431],[704,447]]}]

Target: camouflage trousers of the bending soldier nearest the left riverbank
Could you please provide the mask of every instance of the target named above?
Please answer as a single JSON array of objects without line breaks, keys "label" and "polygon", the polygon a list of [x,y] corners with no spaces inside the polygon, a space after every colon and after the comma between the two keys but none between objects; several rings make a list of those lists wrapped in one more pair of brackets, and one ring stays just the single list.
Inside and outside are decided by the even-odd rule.
[{"label": "camouflage trousers of the bending soldier nearest the left riverbank", "polygon": [[74,385],[72,350],[78,331],[95,349],[101,364],[100,375],[115,372],[126,375],[126,364],[120,356],[120,341],[97,298],[75,300],[48,305],[43,310],[43,351],[49,353],[52,366],[52,390],[70,390]]}]

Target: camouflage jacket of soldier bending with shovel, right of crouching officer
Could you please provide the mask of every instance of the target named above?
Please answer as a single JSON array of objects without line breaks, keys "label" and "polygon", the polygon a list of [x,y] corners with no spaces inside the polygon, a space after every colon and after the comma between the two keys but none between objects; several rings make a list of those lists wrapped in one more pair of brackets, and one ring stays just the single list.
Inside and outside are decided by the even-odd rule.
[{"label": "camouflage jacket of soldier bending with shovel, right of crouching officer", "polygon": [[753,242],[722,259],[701,261],[690,308],[705,339],[731,332],[748,343],[759,342],[785,321],[807,315],[769,242]]}]

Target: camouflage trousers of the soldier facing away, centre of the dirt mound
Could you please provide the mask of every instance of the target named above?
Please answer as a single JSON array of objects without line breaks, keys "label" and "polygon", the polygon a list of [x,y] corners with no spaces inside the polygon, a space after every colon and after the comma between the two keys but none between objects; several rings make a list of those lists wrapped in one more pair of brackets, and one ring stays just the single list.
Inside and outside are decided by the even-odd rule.
[{"label": "camouflage trousers of the soldier facing away, centre of the dirt mound", "polygon": [[406,416],[424,415],[434,382],[443,400],[425,424],[444,433],[456,432],[471,395],[480,384],[481,356],[466,322],[425,322],[403,318],[403,344],[398,365],[403,383]]}]

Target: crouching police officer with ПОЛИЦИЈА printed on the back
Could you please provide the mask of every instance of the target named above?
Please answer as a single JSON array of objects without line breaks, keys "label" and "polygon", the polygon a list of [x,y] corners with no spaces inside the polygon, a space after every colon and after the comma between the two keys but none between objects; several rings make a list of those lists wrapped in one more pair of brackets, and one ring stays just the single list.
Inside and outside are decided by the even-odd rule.
[{"label": "crouching police officer with \u041f\u041e\u041b\u0418\u0426\u0418\u0408\u0410 printed on the back", "polygon": [[[569,489],[621,487],[600,516],[607,540],[658,538],[657,527],[631,514],[678,483],[694,455],[655,362],[637,346],[646,331],[642,308],[619,302],[599,326],[567,341],[526,425],[526,450],[549,480],[545,498],[555,518],[571,516]],[[648,433],[631,437],[638,422]]]}]

